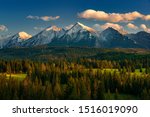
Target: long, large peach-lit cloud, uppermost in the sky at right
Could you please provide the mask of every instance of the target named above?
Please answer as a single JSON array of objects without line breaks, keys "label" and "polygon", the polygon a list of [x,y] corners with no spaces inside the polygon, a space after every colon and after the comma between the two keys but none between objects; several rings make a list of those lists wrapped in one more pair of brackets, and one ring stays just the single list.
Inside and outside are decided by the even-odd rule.
[{"label": "long, large peach-lit cloud, uppermost in the sky at right", "polygon": [[78,13],[79,18],[94,19],[108,22],[129,22],[138,18],[142,20],[150,20],[150,15],[143,15],[137,11],[129,13],[106,13],[104,11],[95,11],[92,9]]}]

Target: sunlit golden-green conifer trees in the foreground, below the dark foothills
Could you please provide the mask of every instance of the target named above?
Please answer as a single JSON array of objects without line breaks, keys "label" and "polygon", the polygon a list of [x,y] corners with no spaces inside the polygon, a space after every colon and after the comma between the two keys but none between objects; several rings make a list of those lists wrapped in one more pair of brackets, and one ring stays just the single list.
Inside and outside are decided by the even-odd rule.
[{"label": "sunlit golden-green conifer trees in the foreground, below the dark foothills", "polygon": [[150,99],[150,59],[0,60],[0,99]]}]

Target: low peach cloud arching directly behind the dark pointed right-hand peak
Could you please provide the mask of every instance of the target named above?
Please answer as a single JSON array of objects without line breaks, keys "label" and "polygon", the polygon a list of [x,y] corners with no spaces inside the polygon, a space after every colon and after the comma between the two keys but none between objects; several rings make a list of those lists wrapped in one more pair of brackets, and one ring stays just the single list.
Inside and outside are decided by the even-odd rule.
[{"label": "low peach cloud arching directly behind the dark pointed right-hand peak", "polygon": [[109,27],[119,31],[122,34],[127,34],[127,31],[123,28],[123,26],[121,26],[119,24],[105,23],[104,25],[99,25],[99,24],[94,25],[94,28],[97,29],[97,30],[105,30]]}]

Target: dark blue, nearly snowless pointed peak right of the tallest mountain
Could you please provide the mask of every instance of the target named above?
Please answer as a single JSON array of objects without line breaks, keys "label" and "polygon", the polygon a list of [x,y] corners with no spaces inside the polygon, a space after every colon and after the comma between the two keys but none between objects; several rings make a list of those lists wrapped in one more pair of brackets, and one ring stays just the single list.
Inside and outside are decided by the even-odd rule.
[{"label": "dark blue, nearly snowless pointed peak right of the tallest mountain", "polygon": [[127,36],[113,28],[107,28],[100,33],[99,42],[104,48],[137,48],[140,47]]}]

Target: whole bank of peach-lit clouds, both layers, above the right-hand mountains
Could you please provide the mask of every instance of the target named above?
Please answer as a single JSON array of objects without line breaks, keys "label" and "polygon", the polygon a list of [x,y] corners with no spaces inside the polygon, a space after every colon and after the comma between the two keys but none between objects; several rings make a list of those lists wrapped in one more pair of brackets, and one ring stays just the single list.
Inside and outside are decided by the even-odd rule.
[{"label": "whole bank of peach-lit clouds, both layers, above the right-hand mountains", "polygon": [[150,28],[144,23],[137,24],[135,20],[150,21],[150,14],[144,15],[140,12],[133,11],[127,13],[107,13],[105,11],[96,11],[93,9],[87,9],[81,13],[78,13],[78,18],[103,21],[104,24],[96,23],[93,28],[102,31],[108,27],[112,27],[118,30],[122,34],[126,34],[129,31],[138,32],[144,30],[150,33]]}]

